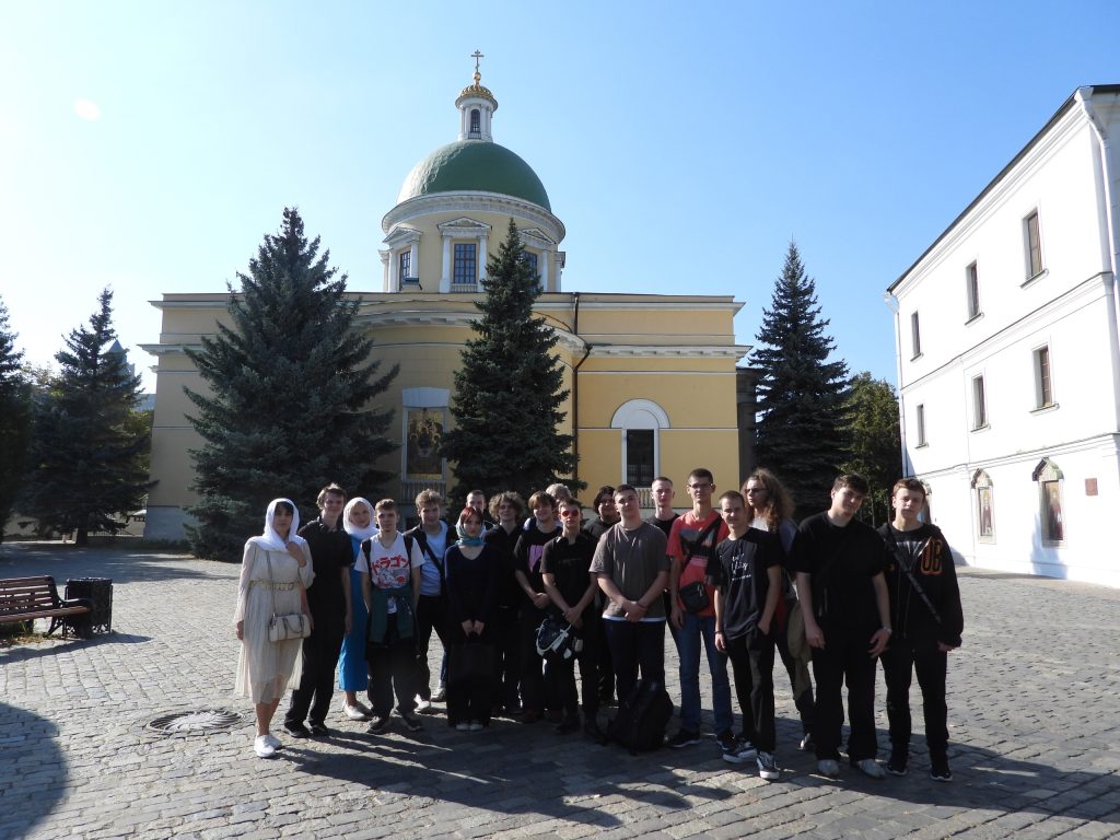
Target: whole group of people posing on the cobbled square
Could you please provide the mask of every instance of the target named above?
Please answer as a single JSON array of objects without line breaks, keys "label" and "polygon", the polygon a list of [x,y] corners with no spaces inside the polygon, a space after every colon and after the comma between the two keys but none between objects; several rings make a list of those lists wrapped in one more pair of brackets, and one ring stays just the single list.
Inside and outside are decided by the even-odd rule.
[{"label": "whole group of people posing on the cobbled square", "polygon": [[[534,493],[528,519],[517,493],[498,493],[487,507],[473,492],[454,526],[442,519],[439,494],[424,491],[416,500],[420,524],[404,533],[392,500],[346,503],[337,485],[320,492],[320,515],[302,529],[295,505],[274,501],[263,536],[245,544],[235,616],[243,640],[237,689],[256,703],[256,754],[280,748],[270,725],[287,684],[293,691],[286,731],[329,735],[336,668],[345,716],[368,721],[371,732],[389,728],[395,696],[411,731],[422,727],[417,712],[446,699],[447,722],[461,731],[505,715],[524,724],[550,719],[560,734],[582,728],[605,743],[597,720],[604,704],[633,697],[640,678],[664,685],[668,625],[681,691],[669,746],[700,743],[702,646],[724,758],[753,762],[760,777],[778,778],[776,652],[801,717],[800,747],[815,752],[821,774],[839,776],[844,684],[851,764],[876,778],[907,772],[916,671],[931,777],[951,781],[946,654],[961,644],[963,619],[952,553],[940,530],[921,521],[922,484],[895,485],[894,519],[878,532],[855,519],[868,492],[860,476],[837,478],[829,510],[800,526],[788,494],[766,469],[713,504],[715,491],[710,470],[692,470],[692,505],[678,515],[673,483],[659,477],[651,487],[655,511],[643,520],[634,487],[601,487],[597,517],[586,524],[563,485]],[[260,632],[250,632],[278,600],[311,616],[314,631],[302,644],[262,645]],[[542,661],[538,628],[545,618],[572,637],[567,656]],[[435,692],[433,633],[444,646]],[[876,760],[877,660],[887,680],[885,769]]]}]

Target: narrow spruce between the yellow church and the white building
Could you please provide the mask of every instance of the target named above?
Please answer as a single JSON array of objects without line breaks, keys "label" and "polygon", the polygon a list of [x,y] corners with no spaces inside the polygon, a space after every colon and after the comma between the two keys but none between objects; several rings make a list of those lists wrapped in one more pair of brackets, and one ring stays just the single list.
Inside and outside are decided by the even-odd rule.
[{"label": "narrow spruce between the yellow church and the white building", "polygon": [[816,287],[805,276],[796,243],[790,243],[771,308],[763,310],[758,347],[762,371],[755,450],[758,463],[782,476],[799,513],[828,506],[828,494],[846,457],[843,362],[824,334]]}]

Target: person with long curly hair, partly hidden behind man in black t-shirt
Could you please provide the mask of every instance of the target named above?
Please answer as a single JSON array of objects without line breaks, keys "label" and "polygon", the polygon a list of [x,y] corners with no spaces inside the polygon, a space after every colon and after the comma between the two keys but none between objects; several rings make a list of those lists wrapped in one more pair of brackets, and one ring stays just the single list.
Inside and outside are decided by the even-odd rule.
[{"label": "person with long curly hair, partly hidden behind man in black t-shirt", "polygon": [[[793,702],[801,718],[801,748],[813,749],[813,681],[809,674],[808,654],[804,659],[794,656],[790,651],[790,613],[797,603],[797,592],[793,586],[796,572],[792,566],[793,541],[797,536],[797,523],[793,521],[793,500],[777,476],[765,467],[759,467],[747,476],[743,483],[743,497],[747,502],[747,511],[753,516],[752,528],[767,531],[778,538],[782,549],[782,596],[777,601],[777,614],[774,616],[774,643],[782,664],[790,676],[790,688]],[[797,632],[801,627],[797,628]]]}]

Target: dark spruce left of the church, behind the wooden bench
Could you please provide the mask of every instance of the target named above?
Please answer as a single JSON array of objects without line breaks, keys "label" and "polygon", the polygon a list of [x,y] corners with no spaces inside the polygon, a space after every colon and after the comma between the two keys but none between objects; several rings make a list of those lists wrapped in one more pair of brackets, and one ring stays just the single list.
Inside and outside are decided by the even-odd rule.
[{"label": "dark spruce left of the church, behind the wooden bench", "polygon": [[140,377],[115,344],[113,293],[101,292],[88,327],[78,327],[55,354],[59,373],[35,398],[30,472],[20,511],[40,528],[75,532],[85,545],[91,531],[116,533],[123,514],[142,506],[149,436],[136,433],[132,416]]}]

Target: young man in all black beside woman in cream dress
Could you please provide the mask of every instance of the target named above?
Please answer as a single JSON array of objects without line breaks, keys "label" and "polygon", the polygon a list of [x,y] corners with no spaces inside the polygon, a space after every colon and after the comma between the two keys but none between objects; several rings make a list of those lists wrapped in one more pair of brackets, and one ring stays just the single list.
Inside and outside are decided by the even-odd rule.
[{"label": "young man in all black beside woman in cream dress", "polygon": [[[335,693],[335,668],[343,640],[353,623],[349,568],[353,562],[349,536],[342,524],[346,491],[328,484],[319,491],[317,519],[299,530],[311,551],[315,582],[307,590],[307,604],[315,626],[304,640],[304,666],[299,688],[291,692],[283,728],[293,738],[326,737],[327,712]],[[309,720],[310,728],[304,724]]]}]

